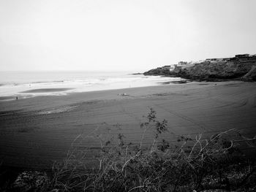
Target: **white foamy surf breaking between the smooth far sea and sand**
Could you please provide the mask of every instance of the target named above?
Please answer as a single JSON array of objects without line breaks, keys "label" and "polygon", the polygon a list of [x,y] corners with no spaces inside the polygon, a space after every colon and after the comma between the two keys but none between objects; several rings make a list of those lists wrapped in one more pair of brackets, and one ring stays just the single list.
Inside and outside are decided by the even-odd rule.
[{"label": "white foamy surf breaking between the smooth far sea and sand", "polygon": [[[136,88],[143,86],[159,85],[159,82],[170,82],[172,80],[176,81],[180,79],[173,77],[144,76],[132,74],[93,74],[91,76],[75,74],[74,77],[71,77],[71,74],[59,74],[59,76],[56,75],[56,77],[51,77],[51,79],[49,80],[48,74],[44,75],[44,78],[40,77],[38,80],[34,77],[33,80],[29,80],[29,78],[23,78],[23,80],[16,81],[1,81],[0,96],[18,96],[19,98],[48,95],[59,96],[74,92],[101,91],[118,88]],[[72,89],[61,92],[29,93],[29,91],[34,89],[49,88]],[[23,93],[24,91],[27,91],[27,93]]]}]

